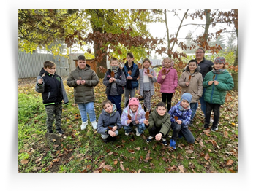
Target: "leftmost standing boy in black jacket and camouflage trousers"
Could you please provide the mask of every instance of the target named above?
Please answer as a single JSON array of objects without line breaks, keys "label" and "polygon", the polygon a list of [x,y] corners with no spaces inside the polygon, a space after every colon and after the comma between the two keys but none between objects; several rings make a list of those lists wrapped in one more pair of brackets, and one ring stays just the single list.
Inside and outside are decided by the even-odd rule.
[{"label": "leftmost standing boy in black jacket and camouflage trousers", "polygon": [[61,129],[61,101],[64,100],[64,104],[67,105],[69,104],[69,100],[62,79],[55,72],[56,64],[52,61],[45,61],[44,67],[37,77],[36,91],[42,93],[42,103],[45,105],[45,112],[47,114],[47,132],[53,133],[55,116],[56,130],[59,134],[64,134],[64,130]]}]

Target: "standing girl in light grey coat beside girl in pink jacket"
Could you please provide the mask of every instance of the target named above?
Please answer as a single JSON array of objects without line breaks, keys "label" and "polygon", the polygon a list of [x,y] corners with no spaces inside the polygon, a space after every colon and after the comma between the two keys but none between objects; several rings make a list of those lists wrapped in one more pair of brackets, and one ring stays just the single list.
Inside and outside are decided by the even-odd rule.
[{"label": "standing girl in light grey coat beside girl in pink jacket", "polygon": [[150,60],[145,58],[143,68],[140,69],[139,89],[137,90],[137,93],[144,98],[144,111],[148,110],[148,112],[151,112],[151,97],[154,95],[154,82],[157,82],[157,73],[150,66]]}]

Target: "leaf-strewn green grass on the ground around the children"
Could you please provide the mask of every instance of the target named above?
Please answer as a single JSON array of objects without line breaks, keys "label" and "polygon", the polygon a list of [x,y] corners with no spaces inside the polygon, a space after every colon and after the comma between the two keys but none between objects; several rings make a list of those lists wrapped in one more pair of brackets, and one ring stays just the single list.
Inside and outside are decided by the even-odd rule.
[{"label": "leaf-strewn green grass on the ground around the children", "polygon": [[[41,94],[34,90],[34,82],[19,85],[19,173],[238,173],[237,91],[230,91],[221,107],[217,132],[203,129],[203,112],[199,106],[195,126],[190,128],[196,139],[195,144],[189,145],[184,138],[178,139],[174,150],[163,146],[160,141],[146,143],[148,130],[138,137],[135,130],[130,136],[125,136],[121,129],[115,142],[104,144],[90,122],[86,130],[80,130],[80,113],[73,101],[73,89],[66,85],[65,80],[64,87],[69,105],[63,106],[61,125],[65,134],[61,137],[61,145],[58,145],[54,140],[45,139],[45,107]],[[95,87],[95,95],[98,118],[102,111],[100,104],[106,98],[102,79]],[[172,105],[179,98],[177,90]],[[159,87],[156,85],[152,107],[159,101]],[[124,108],[124,103],[121,107]],[[167,143],[170,143],[170,138],[167,138]]]}]

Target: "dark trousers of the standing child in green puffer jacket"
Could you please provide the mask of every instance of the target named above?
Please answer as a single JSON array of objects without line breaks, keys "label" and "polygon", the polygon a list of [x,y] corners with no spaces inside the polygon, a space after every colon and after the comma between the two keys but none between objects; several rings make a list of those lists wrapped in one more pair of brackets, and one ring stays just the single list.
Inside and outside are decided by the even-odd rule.
[{"label": "dark trousers of the standing child in green puffer jacket", "polygon": [[214,112],[214,122],[212,125],[217,126],[219,123],[219,109],[220,105],[219,104],[210,104],[206,102],[206,119],[205,119],[205,124],[210,125],[210,118],[211,118],[211,111]]}]

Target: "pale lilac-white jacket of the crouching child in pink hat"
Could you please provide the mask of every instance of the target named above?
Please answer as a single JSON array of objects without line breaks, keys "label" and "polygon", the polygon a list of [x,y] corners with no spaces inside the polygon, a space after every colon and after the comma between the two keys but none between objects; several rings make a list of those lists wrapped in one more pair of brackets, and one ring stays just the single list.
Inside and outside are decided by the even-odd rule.
[{"label": "pale lilac-white jacket of the crouching child in pink hat", "polygon": [[132,118],[132,124],[135,125],[135,120],[138,120],[139,121],[139,124],[142,124],[143,121],[146,119],[145,118],[145,111],[144,109],[142,109],[142,106],[141,104],[139,103],[139,106],[138,106],[138,112],[133,114],[132,113],[132,110],[129,109],[129,106],[127,106],[126,108],[124,108],[122,114],[121,114],[121,125],[124,125],[124,126],[129,126],[130,124],[127,124],[127,120],[128,120],[128,114],[131,116]]}]

